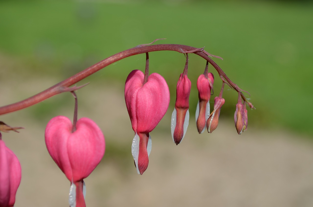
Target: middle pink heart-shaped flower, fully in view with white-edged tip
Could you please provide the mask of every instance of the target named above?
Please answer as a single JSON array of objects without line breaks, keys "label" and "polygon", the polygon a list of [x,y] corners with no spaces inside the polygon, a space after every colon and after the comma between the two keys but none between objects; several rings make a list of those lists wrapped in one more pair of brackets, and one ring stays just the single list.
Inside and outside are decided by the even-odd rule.
[{"label": "middle pink heart-shaped flower, fully in view with white-edged tip", "polygon": [[151,152],[151,132],[163,118],[170,102],[170,92],[165,79],[152,73],[144,83],[144,74],[133,70],[125,83],[125,102],[135,137],[131,145],[137,173],[148,167]]}]

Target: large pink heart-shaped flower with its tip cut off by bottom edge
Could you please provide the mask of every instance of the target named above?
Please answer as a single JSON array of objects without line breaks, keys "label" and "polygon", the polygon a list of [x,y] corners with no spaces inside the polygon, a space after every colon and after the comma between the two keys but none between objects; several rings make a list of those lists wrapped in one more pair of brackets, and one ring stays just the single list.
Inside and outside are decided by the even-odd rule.
[{"label": "large pink heart-shaped flower with its tip cut off by bottom edge", "polygon": [[70,206],[85,206],[83,179],[100,163],[105,152],[101,129],[91,119],[81,118],[72,132],[72,122],[57,116],[47,124],[45,143],[50,156],[71,182]]}]

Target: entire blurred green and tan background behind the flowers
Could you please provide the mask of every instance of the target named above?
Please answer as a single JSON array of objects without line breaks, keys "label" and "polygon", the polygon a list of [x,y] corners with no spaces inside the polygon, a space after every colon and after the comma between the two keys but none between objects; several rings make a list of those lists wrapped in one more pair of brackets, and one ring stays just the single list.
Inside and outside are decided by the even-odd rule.
[{"label": "entire blurred green and tan background behind the flowers", "polygon": [[[144,70],[145,54],[118,61],[78,83],[81,85],[90,82],[77,92],[79,117],[88,116],[94,119],[106,137],[105,157],[103,164],[98,167],[101,171],[97,168],[95,176],[90,176],[92,178],[89,180],[94,182],[90,186],[99,188],[104,193],[97,191],[89,199],[100,204],[109,202],[105,204],[110,205],[111,202],[112,206],[118,206],[116,204],[121,200],[118,196],[123,191],[129,206],[146,206],[144,202],[138,205],[137,200],[131,200],[134,196],[129,192],[133,190],[139,195],[149,189],[152,194],[155,190],[155,196],[164,199],[166,203],[157,205],[157,202],[151,201],[150,206],[175,206],[176,201],[181,201],[181,206],[197,206],[187,201],[207,202],[206,199],[211,198],[221,198],[220,201],[229,202],[235,198],[238,201],[238,205],[229,205],[226,202],[223,205],[213,203],[213,206],[312,206],[313,187],[308,182],[313,172],[310,167],[313,160],[313,93],[309,85],[310,78],[313,78],[310,61],[313,56],[311,1],[0,0],[0,105],[28,98],[104,58],[139,44],[150,43],[156,38],[167,38],[156,42],[160,44],[205,47],[209,53],[223,58],[213,60],[234,83],[251,94],[250,101],[256,108],[248,110],[248,131],[240,136],[236,134],[233,114],[237,93],[226,86],[223,93],[226,103],[222,108],[222,121],[216,132],[212,135],[198,135],[191,116],[191,129],[187,132],[190,134],[178,148],[172,143],[170,135],[168,136],[168,120],[162,120],[153,131],[155,135],[152,135],[156,136],[153,141],[156,143],[156,151],[149,157],[152,161],[145,174],[137,176],[130,154],[133,131],[123,100],[123,90],[131,70]],[[170,119],[176,84],[183,71],[185,57],[172,51],[151,52],[149,57],[150,73],[160,73],[169,85],[171,103],[166,119]],[[192,81],[190,114],[195,113],[198,102],[196,81],[203,73],[205,63],[197,55],[189,55],[188,77]],[[221,81],[212,66],[209,70],[215,75],[214,97],[219,93]],[[51,197],[51,206],[55,206],[55,197],[64,198],[61,187],[60,191],[51,190],[50,194],[59,193],[58,195],[50,196],[45,191],[45,185],[41,184],[46,177],[39,178],[33,174],[33,168],[40,165],[37,170],[42,170],[40,172],[43,176],[46,173],[50,173],[50,176],[58,174],[59,179],[63,179],[60,183],[65,183],[64,189],[67,191],[67,180],[49,158],[44,147],[43,131],[52,117],[71,117],[73,102],[69,93],[63,93],[28,109],[1,116],[1,121],[9,125],[26,128],[20,134],[5,134],[6,144],[19,157],[23,172],[28,173],[23,175],[19,203],[29,199],[29,206],[42,205],[40,198],[33,199],[34,195],[28,187],[33,182],[39,182],[38,180],[40,182],[35,188],[39,193],[43,192],[46,197],[40,196],[46,202]],[[211,104],[213,105],[213,98]],[[292,134],[293,141],[288,139],[289,134]],[[159,140],[157,136],[160,137]],[[25,139],[20,139],[21,137]],[[273,141],[270,142],[267,138]],[[301,147],[298,147],[296,140],[301,140]],[[167,141],[171,142],[170,146]],[[171,148],[172,146],[175,148]],[[158,153],[160,149],[169,150]],[[28,154],[30,151],[34,154]],[[198,176],[194,176],[193,170],[196,167],[193,165],[198,164],[197,162],[200,164],[196,167],[203,170],[199,170],[201,172],[196,174]],[[300,163],[303,165],[300,166]],[[232,168],[232,164],[236,165],[235,168]],[[44,169],[39,169],[43,166]],[[205,166],[209,169],[204,169]],[[228,172],[231,173],[228,175]],[[288,177],[284,174],[286,172],[294,174],[287,174]],[[189,183],[187,189],[180,185],[182,182],[178,179],[179,176]],[[200,180],[197,181],[197,178]],[[102,180],[103,186],[99,179],[106,179]],[[149,180],[156,183],[151,184]],[[150,188],[147,188],[147,183],[151,184]],[[206,183],[209,183],[209,187]],[[140,186],[138,191],[135,190],[135,185]],[[198,192],[198,187],[204,185],[205,190]],[[174,196],[176,199],[172,195],[167,196],[167,192],[160,195],[163,189],[172,189],[173,186],[179,192]],[[211,186],[216,187],[212,192]],[[240,195],[236,194],[238,189],[243,190]],[[264,194],[268,192],[264,189],[277,189],[282,193],[278,195],[269,191],[269,194]],[[294,191],[290,190],[288,194],[285,189]],[[250,193],[254,194],[250,196]],[[189,195],[193,197],[188,198]],[[293,195],[296,199],[300,198],[299,202],[308,205],[286,205],[281,202],[291,199]],[[269,200],[269,203],[262,205],[263,196],[279,201],[275,203],[275,200]],[[242,205],[241,198],[244,198],[246,205]],[[249,198],[253,200],[250,203]],[[62,200],[60,203],[66,204],[66,198],[65,202]],[[46,203],[46,206],[50,205]]]}]

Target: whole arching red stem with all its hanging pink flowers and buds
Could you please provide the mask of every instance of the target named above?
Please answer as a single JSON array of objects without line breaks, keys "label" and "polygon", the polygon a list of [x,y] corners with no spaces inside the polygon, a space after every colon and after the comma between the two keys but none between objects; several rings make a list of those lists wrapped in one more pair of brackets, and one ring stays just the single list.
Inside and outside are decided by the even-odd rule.
[{"label": "whole arching red stem with all its hanging pink flowers and buds", "polygon": [[[138,45],[135,48],[117,53],[31,98],[0,108],[1,115],[26,108],[57,93],[67,91],[74,95],[73,123],[64,116],[54,117],[47,124],[44,134],[45,144],[50,156],[70,181],[70,207],[86,206],[84,179],[100,163],[105,153],[105,138],[101,129],[93,120],[89,118],[77,119],[77,97],[74,90],[85,85],[72,88],[68,88],[68,86],[117,60],[134,54],[146,53],[145,73],[140,70],[131,71],[126,78],[124,93],[126,108],[135,134],[131,144],[131,153],[138,174],[143,174],[148,167],[152,146],[150,133],[167,112],[170,102],[170,92],[165,79],[158,73],[149,75],[149,56],[146,51],[175,50],[186,55],[185,68],[177,81],[176,101],[171,118],[171,134],[176,145],[182,142],[189,124],[191,81],[188,78],[188,53],[195,53],[207,60],[204,73],[197,80],[199,101],[196,109],[196,125],[199,134],[203,133],[205,128],[209,133],[217,128],[220,111],[225,103],[225,99],[222,98],[225,83],[238,92],[238,103],[234,114],[235,128],[238,134],[247,130],[246,105],[250,108],[254,107],[244,97],[243,90],[231,82],[221,68],[208,57],[213,55],[204,51],[203,48],[193,48],[186,45],[162,44],[148,46],[150,44]],[[188,48],[189,50],[187,50]],[[214,98],[214,107],[211,112],[210,98],[213,95],[214,76],[213,73],[208,73],[209,62],[218,71],[223,81],[219,96]],[[12,128],[0,121],[0,131],[2,132],[16,131],[17,129],[22,128]],[[21,165],[15,154],[4,144],[0,133],[0,207],[14,205],[20,181]]]}]

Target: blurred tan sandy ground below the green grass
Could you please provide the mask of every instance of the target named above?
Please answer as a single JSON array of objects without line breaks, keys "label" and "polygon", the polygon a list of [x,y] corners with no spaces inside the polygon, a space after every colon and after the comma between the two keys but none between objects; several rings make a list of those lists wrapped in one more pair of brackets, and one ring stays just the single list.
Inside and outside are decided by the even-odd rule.
[{"label": "blurred tan sandy ground below the green grass", "polygon": [[[40,86],[48,88],[58,81],[50,77],[4,79],[0,87],[6,90],[1,91],[0,105],[27,98],[39,92]],[[77,95],[79,117],[93,119],[107,144],[103,161],[85,179],[87,206],[313,206],[311,139],[282,130],[261,130],[252,124],[239,136],[232,117],[221,120],[213,134],[199,135],[191,117],[184,140],[176,146],[170,135],[170,106],[151,133],[149,166],[140,176],[131,156],[134,133],[123,86],[91,83]],[[52,103],[59,100],[57,97],[68,97],[70,104],[64,104],[51,117],[43,116],[42,121],[31,118],[31,113],[40,104],[49,104],[50,99],[1,116],[9,125],[25,127],[19,134],[2,136],[22,165],[15,206],[68,206],[69,181],[44,144],[49,119],[56,115],[71,118],[73,114],[71,94],[53,97]]]}]

